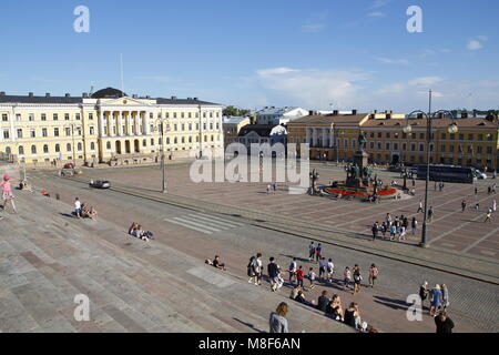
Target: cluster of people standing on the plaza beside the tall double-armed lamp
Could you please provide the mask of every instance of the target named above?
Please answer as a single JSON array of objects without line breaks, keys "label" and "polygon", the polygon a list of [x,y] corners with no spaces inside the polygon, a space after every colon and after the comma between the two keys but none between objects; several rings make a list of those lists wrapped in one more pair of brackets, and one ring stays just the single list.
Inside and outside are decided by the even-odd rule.
[{"label": "cluster of people standing on the plaza beside the tall double-armed lamp", "polygon": [[[432,209],[430,209],[429,211],[432,211]],[[429,211],[428,216],[430,215]],[[390,241],[394,241],[397,236],[398,241],[407,241],[407,231],[409,226],[411,229],[413,235],[416,235],[418,231],[418,221],[416,216],[413,216],[409,222],[409,217],[405,216],[404,214],[401,214],[400,216],[391,217],[391,215],[387,213],[385,221],[381,224],[379,224],[378,221],[373,224],[373,241],[378,239],[379,233],[381,233],[383,240],[386,240],[387,235],[389,235]]]}]

